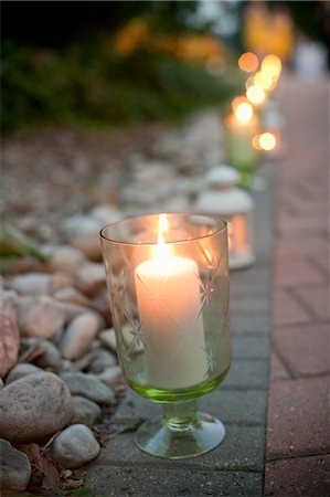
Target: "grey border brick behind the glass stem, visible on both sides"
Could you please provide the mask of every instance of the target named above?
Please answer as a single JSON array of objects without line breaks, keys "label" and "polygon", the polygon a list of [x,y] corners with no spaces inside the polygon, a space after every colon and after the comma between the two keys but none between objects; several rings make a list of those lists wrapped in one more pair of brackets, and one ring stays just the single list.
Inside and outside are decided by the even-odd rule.
[{"label": "grey border brick behind the glass stem, visible on both sides", "polygon": [[[198,400],[198,408],[219,417],[224,423],[265,424],[266,392],[259,390],[226,390],[220,385]],[[115,421],[135,424],[139,420],[161,414],[161,408],[147,401],[131,390],[120,403]]]}]

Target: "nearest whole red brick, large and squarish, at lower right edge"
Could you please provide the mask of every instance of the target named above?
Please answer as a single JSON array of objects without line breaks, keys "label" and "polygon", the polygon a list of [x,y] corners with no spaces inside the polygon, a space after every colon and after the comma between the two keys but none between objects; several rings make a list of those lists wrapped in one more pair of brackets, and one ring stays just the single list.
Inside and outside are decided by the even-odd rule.
[{"label": "nearest whole red brick, large and squarish, at lower right edge", "polygon": [[267,456],[330,451],[329,377],[270,383]]}]

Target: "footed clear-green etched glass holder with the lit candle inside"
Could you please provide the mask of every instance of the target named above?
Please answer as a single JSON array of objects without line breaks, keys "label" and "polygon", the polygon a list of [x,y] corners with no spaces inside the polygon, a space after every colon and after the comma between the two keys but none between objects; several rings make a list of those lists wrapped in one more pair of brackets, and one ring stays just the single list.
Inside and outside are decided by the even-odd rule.
[{"label": "footed clear-green etched glass holder with the lit candle inside", "polygon": [[127,383],[162,404],[137,445],[166,458],[192,457],[225,430],[196,399],[231,364],[226,223],[188,213],[131,218],[100,231],[119,362]]}]

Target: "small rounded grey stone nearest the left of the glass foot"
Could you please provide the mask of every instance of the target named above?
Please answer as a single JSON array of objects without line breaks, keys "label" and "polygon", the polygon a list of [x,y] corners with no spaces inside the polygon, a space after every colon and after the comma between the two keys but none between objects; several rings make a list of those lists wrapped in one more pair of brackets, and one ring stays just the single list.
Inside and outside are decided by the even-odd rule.
[{"label": "small rounded grey stone nearest the left of the glass foot", "polygon": [[65,469],[75,469],[95,459],[100,451],[92,430],[73,424],[56,436],[52,454]]}]

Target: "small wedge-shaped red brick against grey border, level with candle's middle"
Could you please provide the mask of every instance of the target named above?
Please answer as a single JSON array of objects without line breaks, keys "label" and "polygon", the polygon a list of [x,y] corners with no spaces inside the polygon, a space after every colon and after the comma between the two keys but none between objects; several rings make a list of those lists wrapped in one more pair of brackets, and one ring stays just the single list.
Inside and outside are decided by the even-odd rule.
[{"label": "small wedge-shaped red brick against grey border, level with candle's middle", "polygon": [[310,322],[311,316],[289,292],[277,289],[274,293],[274,326],[288,326],[298,322]]}]

